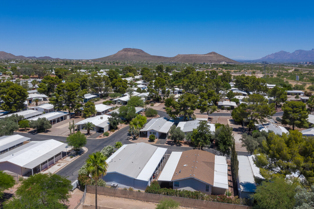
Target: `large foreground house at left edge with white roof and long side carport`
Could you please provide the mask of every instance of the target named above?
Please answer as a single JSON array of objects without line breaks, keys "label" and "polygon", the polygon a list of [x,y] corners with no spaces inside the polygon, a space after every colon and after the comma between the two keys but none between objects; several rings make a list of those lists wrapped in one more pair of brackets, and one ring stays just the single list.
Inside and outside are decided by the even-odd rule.
[{"label": "large foreground house at left edge with white roof and long side carport", "polygon": [[21,176],[34,175],[65,157],[69,150],[67,144],[54,139],[28,142],[0,155],[0,168]]}]

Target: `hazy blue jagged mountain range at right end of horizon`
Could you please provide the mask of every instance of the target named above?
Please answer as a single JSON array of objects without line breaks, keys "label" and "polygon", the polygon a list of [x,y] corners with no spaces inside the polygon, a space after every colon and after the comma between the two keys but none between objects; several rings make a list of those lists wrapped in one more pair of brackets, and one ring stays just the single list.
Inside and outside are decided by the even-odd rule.
[{"label": "hazy blue jagged mountain range at right end of horizon", "polygon": [[254,61],[268,61],[268,62],[313,62],[314,61],[314,49],[306,50],[296,50],[293,53],[287,51],[279,51],[261,59]]}]

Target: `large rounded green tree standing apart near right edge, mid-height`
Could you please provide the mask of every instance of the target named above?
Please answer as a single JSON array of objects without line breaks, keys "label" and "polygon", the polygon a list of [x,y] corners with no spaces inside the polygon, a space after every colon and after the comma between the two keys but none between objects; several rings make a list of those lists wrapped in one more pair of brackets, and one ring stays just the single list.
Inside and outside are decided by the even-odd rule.
[{"label": "large rounded green tree standing apart near right edge, mid-height", "polygon": [[292,126],[298,128],[307,128],[308,127],[308,112],[306,110],[306,104],[301,101],[286,101],[281,108],[284,111],[282,115],[281,123],[283,125]]}]

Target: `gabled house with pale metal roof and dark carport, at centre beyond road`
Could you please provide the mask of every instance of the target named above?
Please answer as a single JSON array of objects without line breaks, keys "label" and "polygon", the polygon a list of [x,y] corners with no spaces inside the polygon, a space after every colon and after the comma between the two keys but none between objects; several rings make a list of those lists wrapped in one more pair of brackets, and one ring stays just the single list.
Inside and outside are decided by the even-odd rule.
[{"label": "gabled house with pale metal roof and dark carport, at centre beyond road", "polygon": [[153,118],[140,130],[141,137],[149,137],[149,135],[155,135],[156,139],[167,137],[168,132],[173,126],[174,121],[168,121],[167,118]]}]

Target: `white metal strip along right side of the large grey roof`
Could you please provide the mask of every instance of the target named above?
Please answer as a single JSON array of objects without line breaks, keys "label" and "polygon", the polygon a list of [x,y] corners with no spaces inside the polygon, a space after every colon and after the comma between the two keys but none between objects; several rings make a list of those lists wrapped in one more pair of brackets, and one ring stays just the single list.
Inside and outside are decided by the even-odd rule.
[{"label": "white metal strip along right side of the large grey roof", "polygon": [[146,163],[141,173],[138,174],[136,179],[148,181],[154,173],[155,169],[158,167],[158,164],[160,163],[160,160],[163,158],[166,151],[167,148],[158,147],[154,154],[150,157],[149,161]]}]

